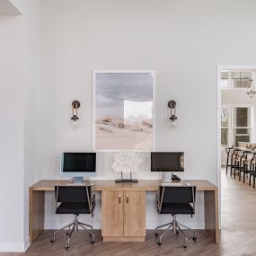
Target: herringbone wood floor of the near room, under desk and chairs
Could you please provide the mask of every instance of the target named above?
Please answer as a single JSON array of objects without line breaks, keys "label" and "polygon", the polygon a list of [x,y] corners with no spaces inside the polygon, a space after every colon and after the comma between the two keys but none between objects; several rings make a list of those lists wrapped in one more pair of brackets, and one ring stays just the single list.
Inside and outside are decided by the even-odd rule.
[{"label": "herringbone wood floor of the near room, under desk and chairs", "polygon": [[198,231],[198,242],[190,239],[187,249],[181,247],[181,239],[172,233],[166,235],[161,246],[153,231],[148,231],[146,243],[103,243],[101,232],[95,231],[96,242],[89,243],[84,231],[72,237],[70,249],[66,251],[65,234],[59,236],[56,243],[50,243],[51,231],[44,231],[24,253],[0,253],[4,256],[60,256],[60,255],[92,255],[92,256],[255,256],[256,231],[222,230],[221,243],[212,243],[205,231]]}]

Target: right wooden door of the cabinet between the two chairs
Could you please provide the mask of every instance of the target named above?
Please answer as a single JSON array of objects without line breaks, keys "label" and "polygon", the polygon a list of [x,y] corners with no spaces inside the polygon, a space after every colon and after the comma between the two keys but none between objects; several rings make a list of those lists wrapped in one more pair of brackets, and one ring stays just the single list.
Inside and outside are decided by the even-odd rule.
[{"label": "right wooden door of the cabinet between the two chairs", "polygon": [[146,191],[124,191],[124,235],[146,235]]}]

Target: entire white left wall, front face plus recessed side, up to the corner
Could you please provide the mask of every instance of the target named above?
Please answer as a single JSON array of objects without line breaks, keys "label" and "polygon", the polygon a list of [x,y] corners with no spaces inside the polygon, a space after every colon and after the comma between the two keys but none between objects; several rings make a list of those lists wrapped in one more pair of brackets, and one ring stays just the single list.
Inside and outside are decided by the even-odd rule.
[{"label": "entire white left wall, front face plus recessed side, up to the corner", "polygon": [[29,186],[38,169],[40,0],[24,15],[0,16],[0,252],[29,244]]}]

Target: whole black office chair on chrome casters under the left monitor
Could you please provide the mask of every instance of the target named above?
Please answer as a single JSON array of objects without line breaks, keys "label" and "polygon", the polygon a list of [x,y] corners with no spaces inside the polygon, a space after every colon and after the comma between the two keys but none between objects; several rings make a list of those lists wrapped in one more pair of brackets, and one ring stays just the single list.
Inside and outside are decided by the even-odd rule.
[{"label": "whole black office chair on chrome casters under the left monitor", "polygon": [[[81,185],[81,186],[56,186],[56,213],[57,214],[74,214],[75,219],[72,223],[64,226],[53,233],[51,242],[54,243],[56,234],[68,228],[66,231],[67,243],[65,248],[67,249],[70,244],[71,235],[78,232],[78,226],[84,228],[85,231],[90,234],[91,243],[94,243],[93,226],[79,222],[77,216],[80,214],[91,214],[93,216],[93,209],[95,207],[95,195],[92,197],[92,185]],[[89,227],[87,229],[86,227]]]}]

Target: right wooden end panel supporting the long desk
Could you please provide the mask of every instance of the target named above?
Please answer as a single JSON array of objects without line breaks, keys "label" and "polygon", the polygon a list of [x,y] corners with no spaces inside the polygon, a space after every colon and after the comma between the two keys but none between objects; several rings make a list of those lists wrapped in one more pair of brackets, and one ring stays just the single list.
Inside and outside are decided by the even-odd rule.
[{"label": "right wooden end panel supporting the long desk", "polygon": [[205,228],[207,233],[219,242],[218,228],[218,194],[217,190],[205,190]]}]

